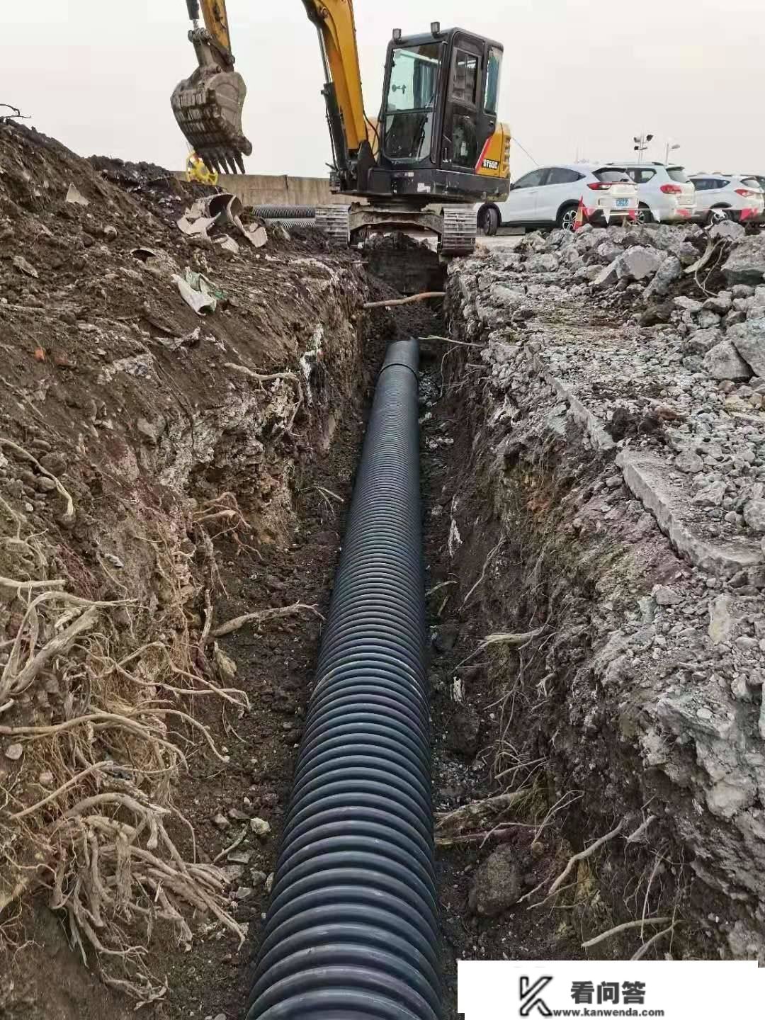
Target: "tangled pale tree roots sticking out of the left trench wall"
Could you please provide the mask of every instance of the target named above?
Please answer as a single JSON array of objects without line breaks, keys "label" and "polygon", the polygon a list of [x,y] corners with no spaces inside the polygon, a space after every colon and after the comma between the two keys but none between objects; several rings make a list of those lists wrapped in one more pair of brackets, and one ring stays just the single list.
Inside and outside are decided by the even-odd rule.
[{"label": "tangled pale tree roots sticking out of the left trench wall", "polygon": [[[34,457],[28,459],[47,474]],[[57,489],[70,500],[60,483]],[[202,508],[204,525],[195,532],[211,556],[208,593],[217,579],[204,528],[227,531],[245,523],[227,495]],[[73,504],[67,502],[69,511]],[[8,524],[12,530],[3,536]],[[216,682],[215,663],[209,672],[196,663],[200,635],[189,629],[188,604],[201,585],[192,575],[193,554],[182,551],[192,522],[157,514],[147,526],[148,533],[135,538],[153,550],[163,585],[160,605],[151,608],[139,601],[146,597],[142,577],[129,569],[120,573],[120,590],[135,592],[135,599],[99,598],[109,584],[103,564],[99,577],[68,548],[54,553],[0,500],[0,549],[9,563],[5,567],[4,561],[8,576],[0,578],[0,591],[16,617],[1,648],[0,734],[24,746],[18,775],[0,787],[0,910],[36,885],[47,886],[51,907],[66,917],[83,959],[139,1004],[167,992],[166,982],[150,969],[148,946],[157,925],[169,926],[178,942],[189,945],[191,919],[205,916],[243,938],[225,907],[224,875],[196,861],[194,830],[171,795],[190,747],[201,742],[213,758],[227,761],[195,718],[196,699],[217,698],[224,709],[240,713],[249,709],[244,692]],[[59,575],[51,577],[54,555]],[[212,627],[209,594],[208,605],[205,640]],[[43,677],[54,678],[61,694],[55,710],[14,718],[14,710],[30,701],[18,696]],[[29,780],[43,772],[50,778],[41,796],[38,783]],[[172,835],[178,824],[190,831],[190,860]],[[0,941],[11,945],[8,939],[0,929]]]}]

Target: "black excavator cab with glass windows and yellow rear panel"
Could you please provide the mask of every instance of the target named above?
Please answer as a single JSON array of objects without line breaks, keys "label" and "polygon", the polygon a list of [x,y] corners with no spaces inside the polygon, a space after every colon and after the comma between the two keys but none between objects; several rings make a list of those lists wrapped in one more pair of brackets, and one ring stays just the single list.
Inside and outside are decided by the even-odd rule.
[{"label": "black excavator cab with glass windows and yellow rear panel", "polygon": [[510,134],[498,120],[503,47],[462,29],[388,47],[368,192],[423,204],[506,198]]}]

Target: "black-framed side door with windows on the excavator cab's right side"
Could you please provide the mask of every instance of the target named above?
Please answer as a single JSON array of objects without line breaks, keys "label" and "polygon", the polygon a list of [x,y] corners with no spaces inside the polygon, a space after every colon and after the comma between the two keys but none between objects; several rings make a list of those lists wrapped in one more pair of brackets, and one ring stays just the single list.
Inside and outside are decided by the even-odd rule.
[{"label": "black-framed side door with windows on the excavator cab's right side", "polygon": [[442,152],[442,165],[447,169],[477,173],[487,142],[497,128],[501,53],[489,50],[484,40],[454,37]]}]

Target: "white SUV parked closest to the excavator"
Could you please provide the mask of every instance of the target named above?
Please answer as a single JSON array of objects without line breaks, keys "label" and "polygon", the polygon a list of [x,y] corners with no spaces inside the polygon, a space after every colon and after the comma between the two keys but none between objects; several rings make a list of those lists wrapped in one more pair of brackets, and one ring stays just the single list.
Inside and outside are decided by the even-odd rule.
[{"label": "white SUV parked closest to the excavator", "polygon": [[561,163],[520,177],[510,186],[506,202],[476,206],[478,228],[486,235],[500,226],[571,231],[582,200],[588,220],[596,225],[638,215],[638,188],[624,170],[603,163]]}]

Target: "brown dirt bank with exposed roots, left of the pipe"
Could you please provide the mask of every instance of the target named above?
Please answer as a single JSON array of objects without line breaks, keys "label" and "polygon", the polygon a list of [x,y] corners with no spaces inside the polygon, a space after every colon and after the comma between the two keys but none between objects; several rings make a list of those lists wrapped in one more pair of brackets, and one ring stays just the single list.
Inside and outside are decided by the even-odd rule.
[{"label": "brown dirt bank with exposed roots, left of the pipe", "polygon": [[[202,917],[230,952],[244,937],[234,873],[195,838],[232,819],[205,803],[201,820],[187,776],[260,775],[231,735],[251,653],[238,673],[218,643],[310,612],[274,597],[301,585],[255,579],[294,541],[301,465],[343,407],[357,423],[353,258],[188,238],[197,194],[0,126],[0,909],[42,888],[83,958],[143,1002],[167,989],[150,938],[189,947]],[[320,515],[342,496],[318,489],[301,498]],[[6,950],[42,923],[21,922],[0,928]]]}]

